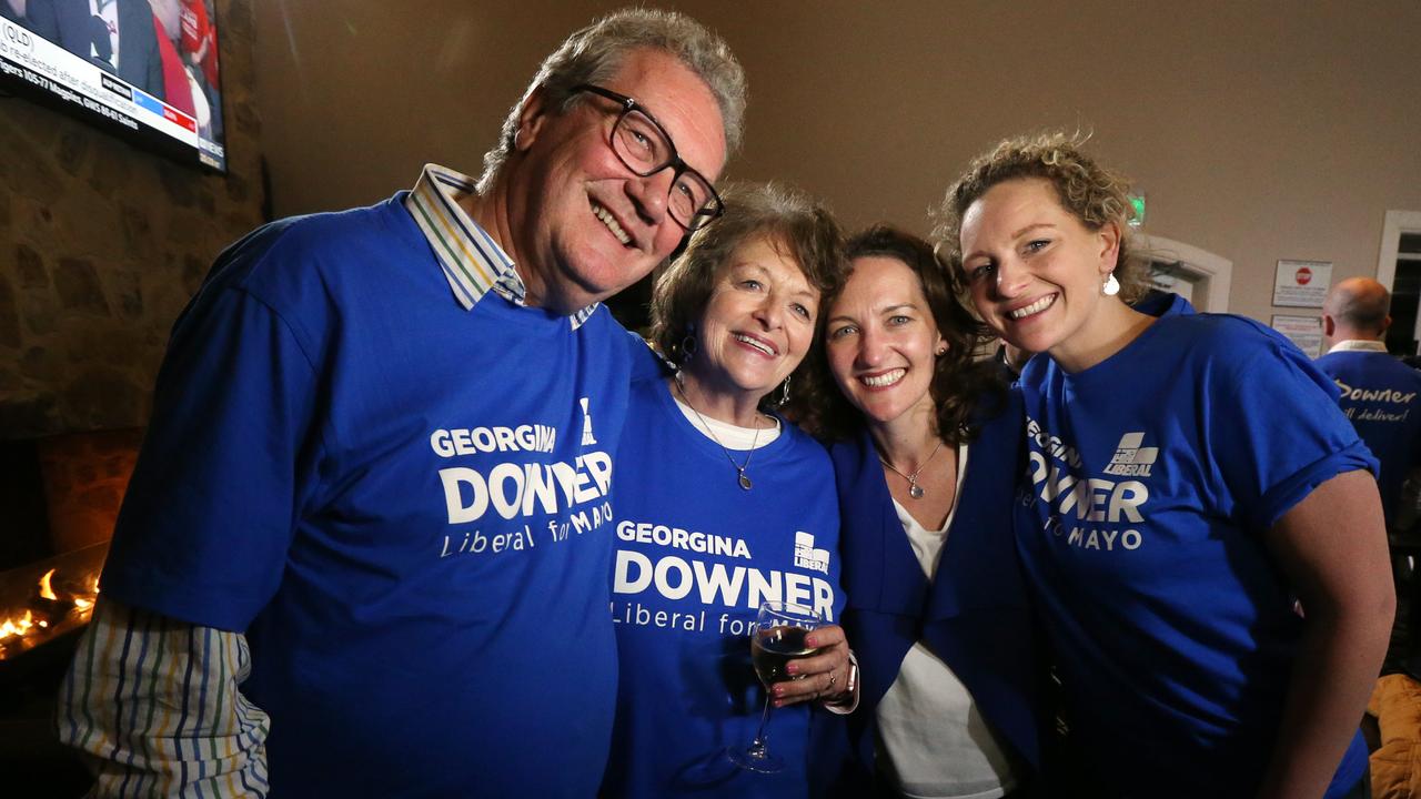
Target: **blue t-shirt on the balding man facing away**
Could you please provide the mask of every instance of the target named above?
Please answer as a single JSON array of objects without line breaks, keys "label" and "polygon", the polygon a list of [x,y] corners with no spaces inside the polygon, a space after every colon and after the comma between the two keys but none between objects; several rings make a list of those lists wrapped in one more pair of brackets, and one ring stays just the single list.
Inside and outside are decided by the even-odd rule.
[{"label": "blue t-shirt on the balding man facing away", "polygon": [[1337,384],[1341,412],[1381,462],[1377,486],[1391,525],[1401,483],[1421,465],[1421,372],[1387,353],[1334,351],[1313,363]]}]

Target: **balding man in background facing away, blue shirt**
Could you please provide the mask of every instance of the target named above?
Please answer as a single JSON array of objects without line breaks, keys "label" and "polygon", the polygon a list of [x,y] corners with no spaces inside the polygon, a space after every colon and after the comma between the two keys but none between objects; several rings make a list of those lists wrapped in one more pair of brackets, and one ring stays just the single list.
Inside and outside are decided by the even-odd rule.
[{"label": "balding man in background facing away, blue shirt", "polygon": [[1370,277],[1337,283],[1323,301],[1323,347],[1317,368],[1341,391],[1339,404],[1380,461],[1377,479],[1387,527],[1401,483],[1421,463],[1421,372],[1387,354],[1391,294]]}]

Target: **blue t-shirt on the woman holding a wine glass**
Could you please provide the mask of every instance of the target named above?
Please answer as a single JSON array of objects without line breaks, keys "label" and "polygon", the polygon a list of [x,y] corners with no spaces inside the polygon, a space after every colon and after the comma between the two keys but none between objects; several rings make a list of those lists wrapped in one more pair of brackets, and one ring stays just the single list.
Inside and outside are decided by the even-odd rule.
[{"label": "blue t-shirt on the woman holding a wine glass", "polygon": [[[612,621],[621,655],[605,796],[764,796],[809,792],[807,705],[772,708],[783,772],[740,771],[764,691],[749,624],[783,599],[838,623],[838,502],[828,454],[784,424],[755,451],[743,490],[720,446],[681,412],[664,380],[632,385],[617,456]],[[732,451],[736,462],[745,452]]]}]

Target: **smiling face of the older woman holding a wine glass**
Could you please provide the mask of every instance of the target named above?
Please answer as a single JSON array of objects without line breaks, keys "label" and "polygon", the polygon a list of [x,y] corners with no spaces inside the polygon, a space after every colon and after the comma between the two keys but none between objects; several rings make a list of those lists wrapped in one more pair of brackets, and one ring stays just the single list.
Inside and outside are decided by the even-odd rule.
[{"label": "smiling face of the older woman holding a wine glass", "polygon": [[685,365],[702,392],[757,402],[809,353],[818,290],[780,249],[755,236],[720,267]]}]

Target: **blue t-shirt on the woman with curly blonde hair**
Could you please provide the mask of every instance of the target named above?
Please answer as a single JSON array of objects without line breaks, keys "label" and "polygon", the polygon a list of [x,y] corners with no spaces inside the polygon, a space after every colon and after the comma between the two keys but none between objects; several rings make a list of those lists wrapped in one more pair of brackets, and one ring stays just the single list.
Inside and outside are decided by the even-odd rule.
[{"label": "blue t-shirt on the woman with curly blonde hair", "polygon": [[[1123,796],[1252,796],[1303,621],[1262,533],[1373,466],[1336,388],[1272,330],[1167,316],[1106,361],[1022,375],[1017,546],[1080,756]],[[1361,775],[1360,736],[1333,793]]]}]

